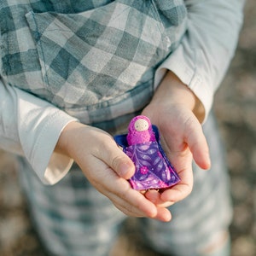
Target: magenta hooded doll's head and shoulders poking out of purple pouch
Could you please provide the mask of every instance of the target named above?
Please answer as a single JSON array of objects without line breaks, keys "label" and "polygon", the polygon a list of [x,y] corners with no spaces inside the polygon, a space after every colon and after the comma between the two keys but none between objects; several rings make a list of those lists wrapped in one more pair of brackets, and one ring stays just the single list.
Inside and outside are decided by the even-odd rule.
[{"label": "magenta hooded doll's head and shoulders poking out of purple pouch", "polygon": [[129,145],[155,141],[152,125],[148,117],[138,115],[131,119],[128,126],[127,143]]}]

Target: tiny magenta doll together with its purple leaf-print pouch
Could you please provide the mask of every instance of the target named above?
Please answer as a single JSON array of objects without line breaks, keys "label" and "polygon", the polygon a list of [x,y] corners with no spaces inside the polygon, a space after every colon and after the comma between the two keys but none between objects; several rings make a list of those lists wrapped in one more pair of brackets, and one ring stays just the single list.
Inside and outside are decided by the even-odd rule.
[{"label": "tiny magenta doll together with its purple leaf-print pouch", "polygon": [[180,181],[160,146],[158,129],[148,117],[138,115],[131,119],[128,134],[114,138],[136,167],[129,180],[133,189],[165,189]]}]

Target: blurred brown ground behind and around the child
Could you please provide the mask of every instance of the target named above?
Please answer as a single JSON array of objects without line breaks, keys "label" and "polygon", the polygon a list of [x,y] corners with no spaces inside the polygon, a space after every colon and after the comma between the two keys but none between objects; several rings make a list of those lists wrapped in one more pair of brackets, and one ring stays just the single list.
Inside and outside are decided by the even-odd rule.
[{"label": "blurred brown ground behind and around the child", "polygon": [[[234,203],[231,256],[256,256],[255,0],[247,1],[236,56],[217,92],[214,108],[227,148]],[[0,151],[0,256],[44,256],[17,179],[13,156]],[[121,236],[119,246],[127,248],[127,243]],[[118,255],[153,254],[142,247],[129,247]]]}]

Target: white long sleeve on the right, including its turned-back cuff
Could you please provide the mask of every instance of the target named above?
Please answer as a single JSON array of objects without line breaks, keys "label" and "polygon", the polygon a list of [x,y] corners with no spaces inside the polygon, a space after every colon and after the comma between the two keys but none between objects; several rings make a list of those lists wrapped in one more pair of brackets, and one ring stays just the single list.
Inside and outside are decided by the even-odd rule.
[{"label": "white long sleeve on the right, including its turned-back cuff", "polygon": [[244,0],[188,1],[187,32],[155,73],[155,86],[160,84],[166,69],[187,84],[203,104],[205,119],[235,53],[244,3]]}]

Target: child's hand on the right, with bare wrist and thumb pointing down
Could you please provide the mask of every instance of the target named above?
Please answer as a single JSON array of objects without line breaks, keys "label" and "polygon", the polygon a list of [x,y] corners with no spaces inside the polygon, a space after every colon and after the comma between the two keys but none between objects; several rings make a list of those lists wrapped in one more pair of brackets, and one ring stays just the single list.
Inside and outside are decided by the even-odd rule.
[{"label": "child's hand on the right, with bare wrist and thumb pointing down", "polygon": [[149,190],[145,196],[156,206],[169,207],[183,200],[192,190],[192,160],[202,169],[211,165],[199,121],[204,111],[193,92],[169,72],[143,114],[158,126],[162,147],[181,178],[172,189],[160,193]]}]

